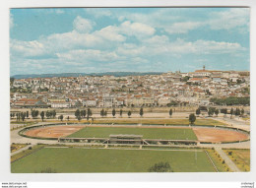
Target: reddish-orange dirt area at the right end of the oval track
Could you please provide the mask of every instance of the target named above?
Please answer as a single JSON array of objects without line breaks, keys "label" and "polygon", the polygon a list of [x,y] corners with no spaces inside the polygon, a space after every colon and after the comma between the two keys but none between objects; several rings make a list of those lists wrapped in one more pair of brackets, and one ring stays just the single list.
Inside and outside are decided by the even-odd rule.
[{"label": "reddish-orange dirt area at the right end of the oval track", "polygon": [[243,133],[224,129],[193,128],[193,131],[201,142],[231,142],[242,141],[248,138],[248,136]]}]

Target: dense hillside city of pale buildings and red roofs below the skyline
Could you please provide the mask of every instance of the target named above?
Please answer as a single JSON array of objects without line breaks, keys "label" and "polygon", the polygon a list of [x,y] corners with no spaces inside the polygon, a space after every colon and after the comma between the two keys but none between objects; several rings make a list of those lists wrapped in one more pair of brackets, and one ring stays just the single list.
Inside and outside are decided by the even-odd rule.
[{"label": "dense hillside city of pale buildings and red roofs below the skyline", "polygon": [[213,71],[205,66],[194,72],[160,75],[11,79],[11,106],[209,105],[214,98],[249,97],[249,81],[248,71]]}]

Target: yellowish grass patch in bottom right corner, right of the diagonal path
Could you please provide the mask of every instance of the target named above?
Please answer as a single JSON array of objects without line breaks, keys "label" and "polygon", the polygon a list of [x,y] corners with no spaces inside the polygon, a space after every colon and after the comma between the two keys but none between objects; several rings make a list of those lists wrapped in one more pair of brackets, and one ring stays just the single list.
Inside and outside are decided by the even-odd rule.
[{"label": "yellowish grass patch in bottom right corner, right of the diagonal path", "polygon": [[250,171],[250,150],[224,150],[224,153],[231,158],[241,171]]}]

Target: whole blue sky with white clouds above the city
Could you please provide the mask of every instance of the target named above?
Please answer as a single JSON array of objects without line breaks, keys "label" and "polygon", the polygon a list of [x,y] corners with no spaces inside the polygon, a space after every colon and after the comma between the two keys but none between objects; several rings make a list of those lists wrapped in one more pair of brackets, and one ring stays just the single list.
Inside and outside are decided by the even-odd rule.
[{"label": "whole blue sky with white clouds above the city", "polygon": [[249,8],[10,9],[10,72],[250,69]]}]

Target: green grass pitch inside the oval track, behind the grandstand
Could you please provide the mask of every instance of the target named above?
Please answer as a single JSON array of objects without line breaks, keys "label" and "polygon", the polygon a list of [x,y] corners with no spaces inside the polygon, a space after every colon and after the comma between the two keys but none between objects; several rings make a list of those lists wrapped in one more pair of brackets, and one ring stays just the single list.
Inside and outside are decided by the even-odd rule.
[{"label": "green grass pitch inside the oval track, behind the grandstand", "polygon": [[143,135],[144,139],[197,140],[190,128],[86,127],[69,138],[108,138],[109,135]]}]

